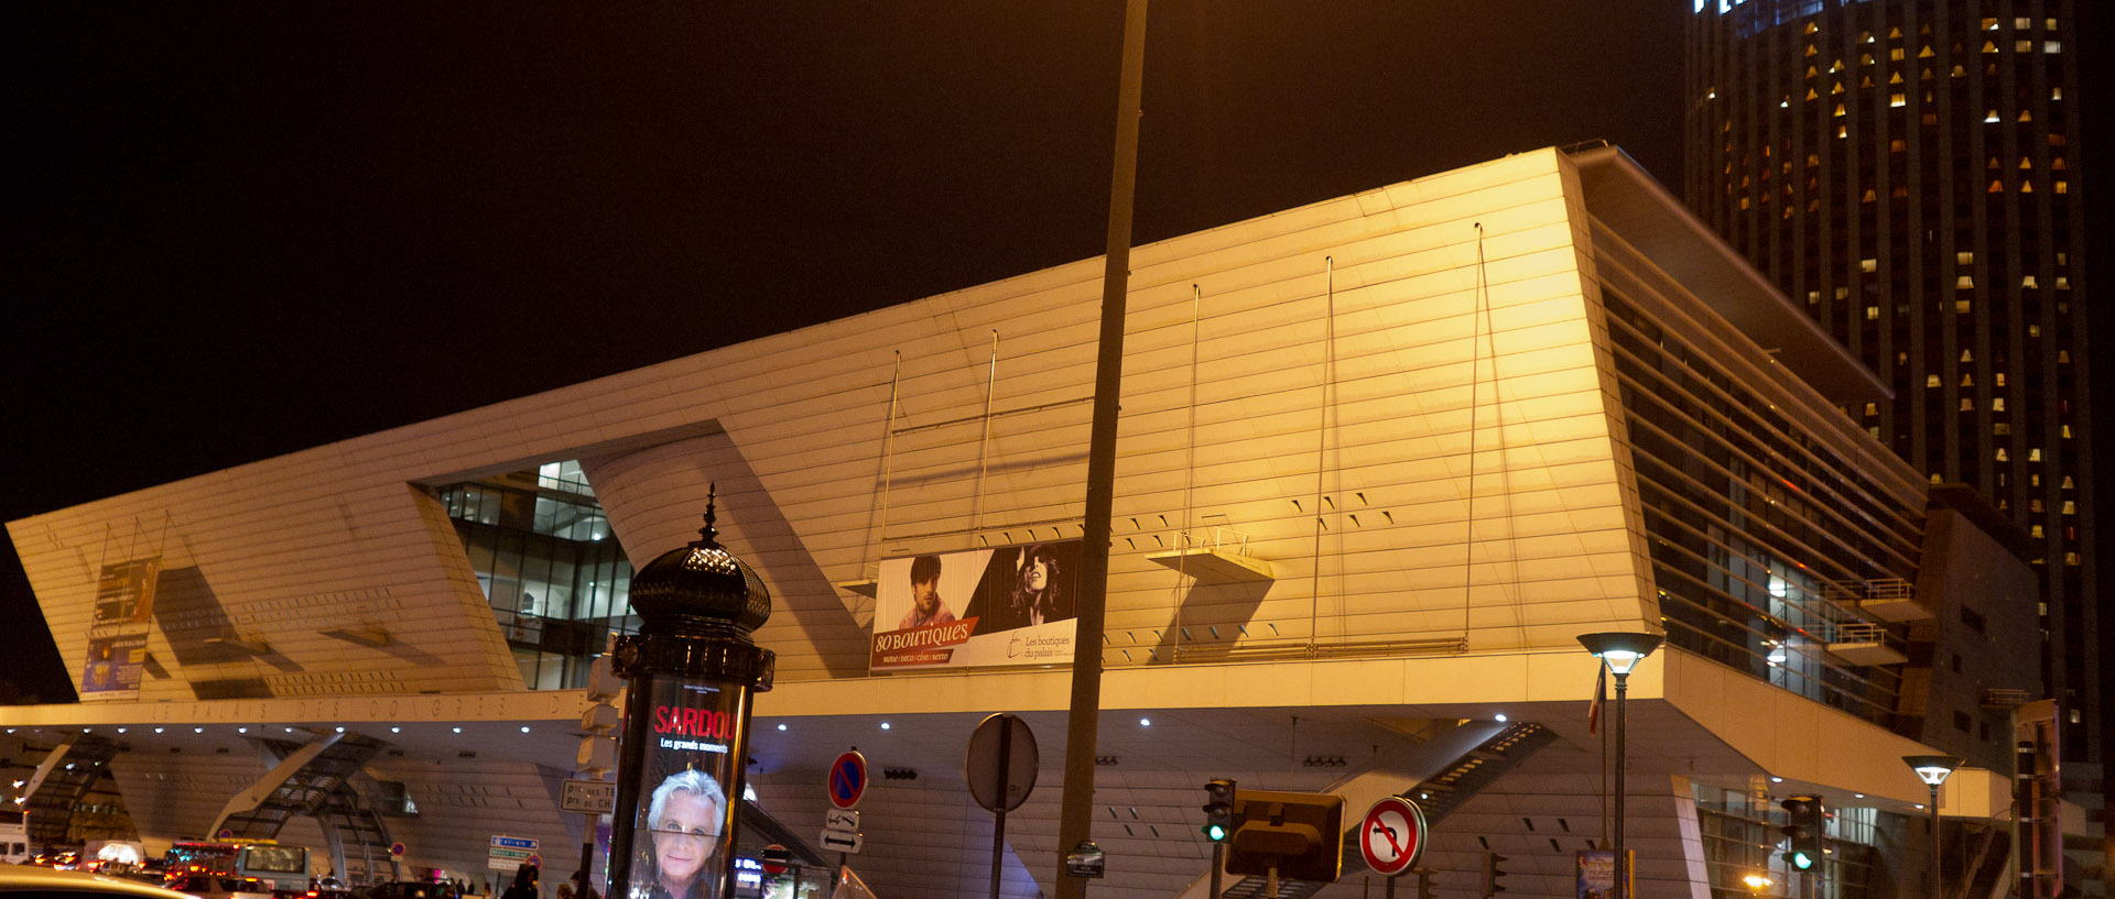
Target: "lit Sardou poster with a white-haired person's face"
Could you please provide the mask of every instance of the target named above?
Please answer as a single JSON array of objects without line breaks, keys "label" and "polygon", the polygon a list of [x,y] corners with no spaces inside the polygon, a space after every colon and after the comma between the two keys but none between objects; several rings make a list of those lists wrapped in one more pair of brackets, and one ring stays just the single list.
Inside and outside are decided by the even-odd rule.
[{"label": "lit Sardou poster with a white-haired person's face", "polygon": [[747,692],[677,677],[656,677],[649,690],[649,713],[632,728],[645,753],[630,772],[639,812],[626,899],[725,897],[736,836],[730,793],[742,787],[734,747],[749,724]]}]

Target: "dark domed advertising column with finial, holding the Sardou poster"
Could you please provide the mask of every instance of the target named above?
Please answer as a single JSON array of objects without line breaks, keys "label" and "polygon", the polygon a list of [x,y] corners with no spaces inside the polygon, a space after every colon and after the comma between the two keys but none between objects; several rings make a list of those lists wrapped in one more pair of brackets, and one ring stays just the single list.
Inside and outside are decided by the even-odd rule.
[{"label": "dark domed advertising column with finial, holding the Sardou poster", "polygon": [[639,635],[615,646],[630,682],[618,747],[611,899],[732,899],[751,694],[774,656],[751,642],[770,618],[757,572],[700,540],[632,576]]}]

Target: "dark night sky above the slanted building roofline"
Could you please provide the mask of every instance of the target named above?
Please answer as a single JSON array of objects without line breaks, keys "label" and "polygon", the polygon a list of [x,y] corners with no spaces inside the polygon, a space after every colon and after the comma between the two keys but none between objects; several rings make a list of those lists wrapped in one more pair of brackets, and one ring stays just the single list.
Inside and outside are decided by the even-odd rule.
[{"label": "dark night sky above the slanted building roofline", "polygon": [[[1679,192],[1688,15],[1153,0],[1136,241],[1590,139]],[[1121,27],[1121,0],[6,4],[0,519],[1100,255]],[[40,620],[13,547],[0,616]],[[0,680],[72,701],[23,633]]]}]

